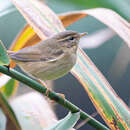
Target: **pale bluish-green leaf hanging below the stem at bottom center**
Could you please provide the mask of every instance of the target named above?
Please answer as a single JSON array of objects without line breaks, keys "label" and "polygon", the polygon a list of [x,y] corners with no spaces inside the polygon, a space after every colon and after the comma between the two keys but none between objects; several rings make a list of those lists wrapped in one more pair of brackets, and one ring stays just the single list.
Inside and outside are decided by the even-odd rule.
[{"label": "pale bluish-green leaf hanging below the stem at bottom center", "polygon": [[74,125],[77,123],[77,121],[80,118],[80,112],[77,113],[71,113],[62,120],[58,121],[55,125],[46,128],[45,130],[70,130],[74,127]]}]

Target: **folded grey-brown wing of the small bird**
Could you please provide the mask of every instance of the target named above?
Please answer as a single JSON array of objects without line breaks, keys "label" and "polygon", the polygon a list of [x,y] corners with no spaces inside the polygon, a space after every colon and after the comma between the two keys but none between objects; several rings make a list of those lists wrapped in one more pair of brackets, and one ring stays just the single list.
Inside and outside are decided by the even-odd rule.
[{"label": "folded grey-brown wing of the small bird", "polygon": [[[58,54],[58,55],[57,55]],[[64,53],[62,51],[57,51],[48,53],[47,51],[40,51],[37,48],[27,47],[23,48],[18,52],[9,53],[9,57],[15,61],[21,62],[54,62],[62,58]]]}]

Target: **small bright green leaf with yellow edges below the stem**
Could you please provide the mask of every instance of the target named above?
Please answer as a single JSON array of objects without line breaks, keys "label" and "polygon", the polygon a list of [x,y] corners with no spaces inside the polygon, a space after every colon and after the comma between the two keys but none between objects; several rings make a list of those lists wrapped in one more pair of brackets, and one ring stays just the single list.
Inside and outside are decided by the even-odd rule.
[{"label": "small bright green leaf with yellow edges below the stem", "polygon": [[2,88],[0,88],[0,90],[7,98],[9,98],[16,91],[17,85],[18,81],[16,81],[15,79],[10,79],[7,82],[7,84],[5,84]]}]

